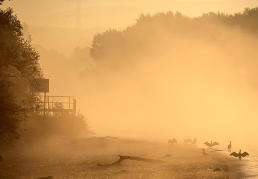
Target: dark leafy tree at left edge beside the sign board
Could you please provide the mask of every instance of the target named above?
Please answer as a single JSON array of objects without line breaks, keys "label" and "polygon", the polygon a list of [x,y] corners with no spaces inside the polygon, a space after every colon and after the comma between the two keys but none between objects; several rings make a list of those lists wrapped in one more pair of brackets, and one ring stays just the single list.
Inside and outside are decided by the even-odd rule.
[{"label": "dark leafy tree at left edge beside the sign board", "polygon": [[[0,9],[0,141],[19,138],[20,126],[32,114],[29,84],[42,78],[39,54],[23,38],[13,10]],[[37,84],[35,84],[37,85]]]}]

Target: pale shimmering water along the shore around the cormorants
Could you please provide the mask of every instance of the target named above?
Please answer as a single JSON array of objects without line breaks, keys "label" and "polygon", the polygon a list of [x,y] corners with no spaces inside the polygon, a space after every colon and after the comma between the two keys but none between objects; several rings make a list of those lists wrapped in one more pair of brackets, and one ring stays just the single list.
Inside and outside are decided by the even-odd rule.
[{"label": "pale shimmering water along the shore around the cormorants", "polygon": [[[102,134],[103,135],[103,134]],[[110,135],[110,134],[109,134]],[[105,136],[105,135],[103,135]],[[106,135],[107,136],[107,135]],[[111,136],[111,135],[110,135]],[[159,136],[150,136],[145,134],[112,134],[112,136],[120,136],[121,138],[129,138],[129,139],[136,139],[136,140],[148,140],[148,141],[156,141],[156,142],[165,142],[168,143],[169,138],[166,137],[159,137]],[[173,136],[170,137],[171,139]],[[185,137],[187,138],[187,136]],[[189,137],[191,138],[191,137]],[[194,138],[194,137],[193,137]],[[250,140],[252,139],[252,140]],[[182,144],[183,138],[177,139],[177,142]],[[242,136],[242,137],[236,137],[236,140],[231,139],[232,148],[231,151],[227,150],[229,141],[226,141],[224,139],[220,139],[218,142],[220,145],[213,147],[211,151],[207,148],[206,145],[204,145],[204,140],[197,140],[196,147],[199,148],[206,148],[207,152],[211,153],[213,150],[219,150],[216,152],[216,155],[218,154],[219,157],[224,160],[227,163],[237,163],[239,164],[238,167],[233,167],[230,169],[233,173],[238,173],[239,170],[244,172],[247,177],[245,179],[258,179],[258,140],[256,139],[256,136]],[[210,142],[210,141],[208,141]],[[230,153],[236,152],[239,153],[239,150],[241,149],[241,153],[248,152],[249,156],[246,156],[245,158],[242,158],[242,160],[238,160],[238,158],[235,158],[233,156],[230,156]],[[201,150],[200,150],[201,151]],[[202,151],[201,151],[202,152]],[[237,175],[237,174],[236,174]],[[234,178],[235,177],[231,177]],[[242,179],[241,177],[237,176],[236,178]]]}]

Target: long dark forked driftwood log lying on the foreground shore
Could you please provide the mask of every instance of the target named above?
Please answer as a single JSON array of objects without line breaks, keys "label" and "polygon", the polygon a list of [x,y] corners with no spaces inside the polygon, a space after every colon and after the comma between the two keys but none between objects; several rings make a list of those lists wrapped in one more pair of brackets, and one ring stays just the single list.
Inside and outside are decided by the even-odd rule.
[{"label": "long dark forked driftwood log lying on the foreground shore", "polygon": [[154,160],[154,159],[146,159],[146,158],[141,158],[141,157],[132,157],[132,156],[120,156],[118,155],[120,158],[118,161],[113,162],[111,164],[98,164],[97,166],[99,167],[111,167],[111,166],[118,166],[121,165],[120,163],[125,160],[125,159],[129,159],[129,160],[137,160],[137,161],[143,161],[143,162],[148,162],[148,163],[156,163],[156,164],[162,164],[165,163],[165,161],[161,161],[161,160]]}]

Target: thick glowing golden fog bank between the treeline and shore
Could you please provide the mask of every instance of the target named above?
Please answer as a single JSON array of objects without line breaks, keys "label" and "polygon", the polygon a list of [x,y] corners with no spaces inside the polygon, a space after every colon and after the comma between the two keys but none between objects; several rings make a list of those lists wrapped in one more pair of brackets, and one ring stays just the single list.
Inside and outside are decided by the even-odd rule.
[{"label": "thick glowing golden fog bank between the treeline and shore", "polygon": [[219,23],[196,29],[204,26],[203,36],[154,36],[131,62],[37,49],[51,94],[74,95],[97,134],[245,141],[258,124],[258,39]]}]

